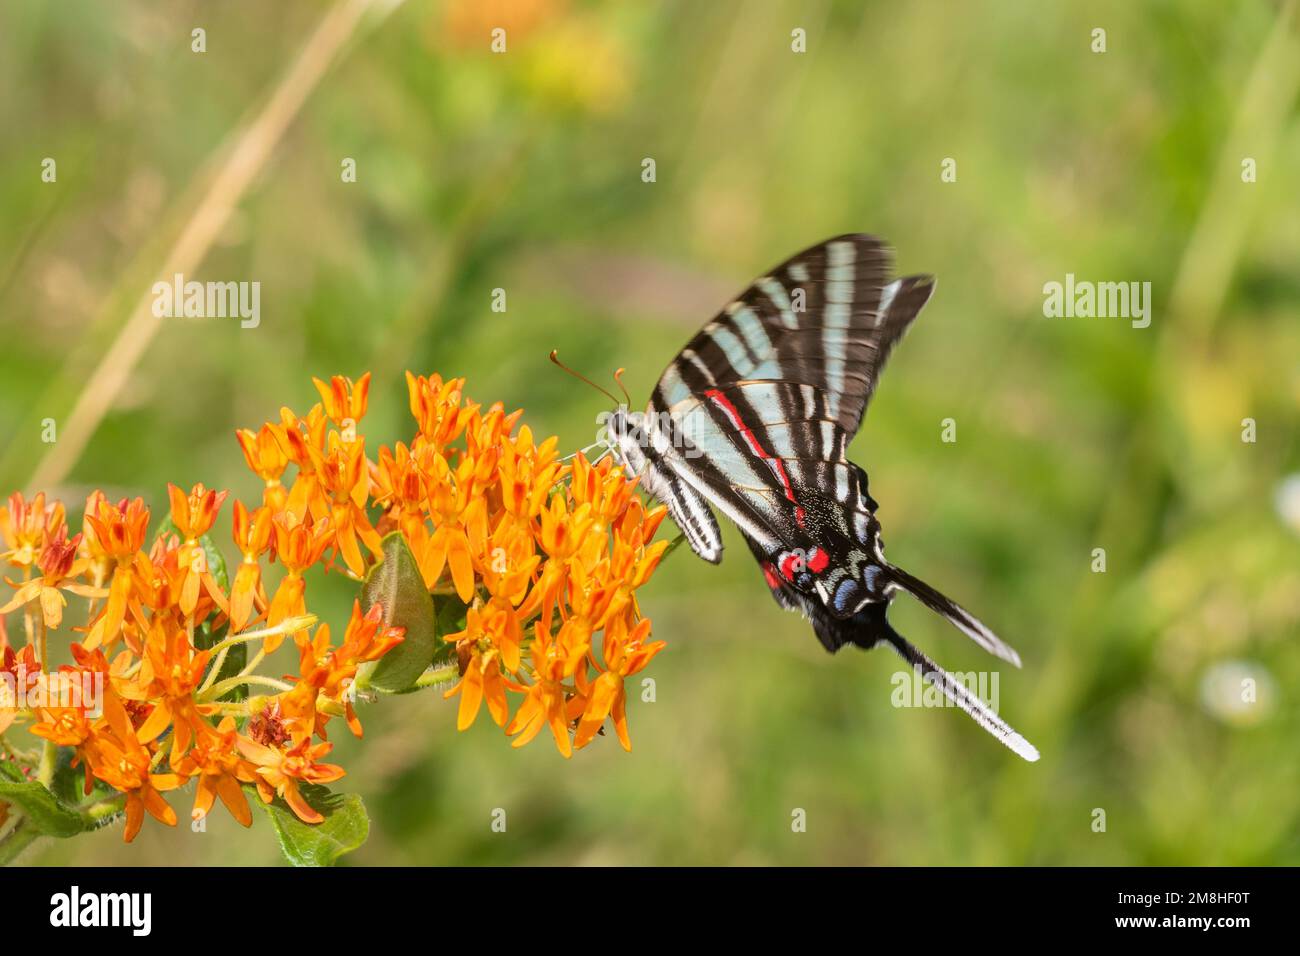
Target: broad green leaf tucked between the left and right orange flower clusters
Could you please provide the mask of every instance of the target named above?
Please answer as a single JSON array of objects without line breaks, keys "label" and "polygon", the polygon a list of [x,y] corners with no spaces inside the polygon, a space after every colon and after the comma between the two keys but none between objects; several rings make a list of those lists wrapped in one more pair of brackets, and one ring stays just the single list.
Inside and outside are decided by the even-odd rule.
[{"label": "broad green leaf tucked between the left and right orange flower clusters", "polygon": [[361,585],[361,607],[369,610],[374,605],[384,607],[386,624],[406,628],[406,640],[384,656],[365,683],[390,693],[406,691],[433,663],[441,648],[433,597],[398,532],[384,538],[384,561],[370,568]]}]

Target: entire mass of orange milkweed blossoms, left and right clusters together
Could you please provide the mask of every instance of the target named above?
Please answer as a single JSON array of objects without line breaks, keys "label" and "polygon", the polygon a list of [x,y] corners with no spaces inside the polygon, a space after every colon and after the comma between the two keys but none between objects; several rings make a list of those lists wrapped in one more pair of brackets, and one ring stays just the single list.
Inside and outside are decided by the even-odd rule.
[{"label": "entire mass of orange milkweed blossoms, left and right clusters together", "polygon": [[[211,538],[228,493],[202,484],[169,485],[169,522],[152,541],[142,498],[92,493],[72,537],[64,506],[43,494],[0,506],[0,562],[18,572],[5,578],[14,592],[0,606],[0,697],[6,688],[18,697],[0,700],[0,735],[23,722],[48,741],[47,756],[69,748],[87,796],[96,782],[117,792],[127,840],[146,814],[174,826],[164,795],[190,780],[196,817],[220,799],[247,826],[251,786],[321,821],[300,787],[343,775],[322,762],[326,724],[341,717],[361,735],[354,700],[404,635],[381,605],[363,613],[360,602],[342,643],[328,624],[313,632],[306,574],[322,566],[360,580],[394,532],[439,619],[464,619],[442,636],[452,663],[422,682],[459,670],[446,696],[459,697],[462,730],[486,702],[515,747],[549,727],[568,757],[608,719],[630,749],[624,682],[663,646],[649,643],[636,591],[667,548],[653,542],[666,510],[647,510],[607,462],[562,462],[555,438],[537,444],[516,429],[520,412],[464,399],[460,378],[408,373],[416,434],[376,460],[358,432],[369,376],[315,384],[321,401],[306,416],[283,408],[278,421],[237,433],[264,492],[254,507],[233,503],[240,561],[230,578]],[[273,589],[272,563],[282,567]],[[48,636],[69,594],[88,611],[73,628],[73,662],[55,667]],[[13,613],[27,637],[21,650],[6,636]],[[298,672],[259,674],[285,640]],[[264,693],[248,698],[251,688]]]}]

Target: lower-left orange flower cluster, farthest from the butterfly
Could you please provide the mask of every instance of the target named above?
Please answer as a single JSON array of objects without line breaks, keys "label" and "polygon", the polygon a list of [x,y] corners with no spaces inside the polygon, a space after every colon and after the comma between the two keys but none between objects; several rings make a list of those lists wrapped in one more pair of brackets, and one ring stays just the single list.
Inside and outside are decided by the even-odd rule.
[{"label": "lower-left orange flower cluster, farthest from the butterfly", "polygon": [[[178,533],[159,535],[148,550],[150,510],[140,498],[113,505],[95,492],[86,502],[83,531],[70,540],[58,502],[14,494],[0,507],[0,558],[23,574],[22,581],[9,580],[16,592],[0,615],[22,609],[30,637],[17,653],[0,637],[0,685],[17,691],[17,700],[0,701],[0,732],[26,717],[31,734],[72,748],[87,795],[96,779],[122,795],[127,840],[139,832],[146,813],[176,826],[176,810],[162,793],[191,779],[194,818],[211,812],[220,797],[248,826],[252,813],[242,790],[248,783],[266,803],[278,795],[302,819],[320,822],[299,786],[337,779],[343,770],[317,762],[330,745],[313,745],[313,736],[324,740],[330,713],[344,714],[360,735],[348,682],[402,635],[384,627],[381,607],[363,617],[355,605],[341,646],[330,645],[328,624],[300,640],[299,675],[290,683],[255,674],[260,656],[218,680],[231,648],[252,637],[282,637],[311,618],[278,631],[237,633],[200,650],[204,630],[225,633],[230,623],[229,596],[203,541],[226,494],[203,485],[190,494],[170,485],[169,493]],[[74,663],[52,669],[48,632],[62,622],[65,592],[91,598],[91,609],[87,624],[78,628],[84,641],[72,644]],[[257,604],[254,623],[269,610],[264,598]],[[306,632],[300,627],[299,633]],[[248,717],[250,705],[224,697],[254,683],[281,689],[261,700],[259,713],[274,713],[282,732],[268,734],[265,719],[238,730],[237,717]]]}]

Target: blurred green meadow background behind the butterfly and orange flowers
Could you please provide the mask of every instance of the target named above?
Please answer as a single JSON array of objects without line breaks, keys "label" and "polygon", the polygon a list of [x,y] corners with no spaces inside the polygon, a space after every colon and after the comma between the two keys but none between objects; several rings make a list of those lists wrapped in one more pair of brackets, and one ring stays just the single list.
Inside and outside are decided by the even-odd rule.
[{"label": "blurred green meadow background behind the butterfly and orange flowers", "polygon": [[[633,753],[512,750],[486,719],[458,734],[441,695],[386,700],[339,745],[372,816],[348,860],[1300,864],[1297,49],[1295,4],[1266,0],[5,0],[3,492],[39,484],[75,516],[94,486],[252,501],[233,431],[365,369],[372,454],[412,432],[407,368],[467,375],[572,450],[604,399],[550,349],[627,365],[640,402],[751,277],[878,233],[939,290],[852,457],[890,557],[1020,650],[1001,713],[1041,762],[956,710],[893,708],[897,658],[824,654],[728,528],[722,566],[682,549],[644,592],[668,649]],[[129,325],[178,246],[187,278],[261,282],[261,325]],[[1150,328],[1044,317],[1067,272],[1149,281]],[[333,620],[351,594],[308,587]],[[915,605],[893,618],[949,670],[992,666]],[[260,814],[252,834],[220,814],[26,860],[278,851]]]}]

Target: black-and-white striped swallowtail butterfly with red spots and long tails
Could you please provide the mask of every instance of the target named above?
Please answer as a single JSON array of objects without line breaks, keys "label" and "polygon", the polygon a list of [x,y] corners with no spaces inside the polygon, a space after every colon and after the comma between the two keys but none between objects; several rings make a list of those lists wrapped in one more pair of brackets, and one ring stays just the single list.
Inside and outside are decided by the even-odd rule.
[{"label": "black-and-white striped swallowtail butterfly with red spots and long tails", "polygon": [[888,247],[840,235],[758,278],[692,338],[645,414],[620,408],[606,444],[668,506],[692,550],[722,559],[712,509],[736,523],[777,604],[802,611],[829,652],[893,648],[1026,760],[1039,752],[890,627],[906,592],[991,654],[1009,645],[924,581],[885,561],[867,473],[845,458],[889,351],[935,289],[892,278]]}]

